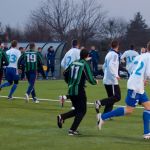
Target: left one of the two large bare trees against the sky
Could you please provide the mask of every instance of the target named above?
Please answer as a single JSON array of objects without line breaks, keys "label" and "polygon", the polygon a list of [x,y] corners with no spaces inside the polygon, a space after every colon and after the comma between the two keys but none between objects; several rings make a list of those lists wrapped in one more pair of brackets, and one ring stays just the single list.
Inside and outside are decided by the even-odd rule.
[{"label": "left one of the two large bare trees against the sky", "polygon": [[39,9],[32,12],[32,19],[47,24],[57,40],[65,40],[73,14],[72,0],[47,0]]}]

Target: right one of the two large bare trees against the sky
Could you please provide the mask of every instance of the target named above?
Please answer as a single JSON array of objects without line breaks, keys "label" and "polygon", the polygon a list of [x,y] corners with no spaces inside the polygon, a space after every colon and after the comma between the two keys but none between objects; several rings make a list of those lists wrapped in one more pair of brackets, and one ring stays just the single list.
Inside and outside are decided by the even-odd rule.
[{"label": "right one of the two large bare trees against the sky", "polygon": [[104,19],[105,12],[99,0],[81,0],[73,22],[76,37],[86,44],[102,28]]}]

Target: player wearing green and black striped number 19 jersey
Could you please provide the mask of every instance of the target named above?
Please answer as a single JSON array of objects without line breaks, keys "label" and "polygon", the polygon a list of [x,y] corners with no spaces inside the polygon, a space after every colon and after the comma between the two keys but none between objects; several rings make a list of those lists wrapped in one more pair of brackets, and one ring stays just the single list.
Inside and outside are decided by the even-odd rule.
[{"label": "player wearing green and black striped number 19 jersey", "polygon": [[28,89],[25,93],[26,102],[29,102],[29,96],[32,95],[33,102],[39,103],[36,93],[35,93],[35,80],[36,80],[36,72],[38,67],[42,68],[43,62],[40,54],[35,51],[35,44],[30,43],[30,50],[23,53],[18,61],[19,69],[21,69],[21,62],[24,61],[25,65],[25,73],[29,83]]}]

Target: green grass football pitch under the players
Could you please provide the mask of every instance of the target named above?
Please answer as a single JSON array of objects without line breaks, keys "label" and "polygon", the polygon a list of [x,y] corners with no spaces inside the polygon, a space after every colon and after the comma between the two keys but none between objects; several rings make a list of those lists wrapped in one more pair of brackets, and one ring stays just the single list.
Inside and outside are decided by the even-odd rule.
[{"label": "green grass football pitch under the players", "polygon": [[[120,82],[124,105],[126,81]],[[23,97],[27,88],[26,82],[20,82],[14,96]],[[9,88],[0,95],[7,96]],[[150,88],[147,87],[147,93]],[[67,86],[64,81],[37,81],[36,91],[39,98],[58,99],[65,94]],[[98,86],[87,84],[88,102],[106,96],[100,81]],[[150,94],[150,92],[148,93]],[[72,119],[65,122],[62,129],[56,125],[56,116],[70,109],[70,103],[61,108],[59,102],[32,101],[23,99],[8,101],[0,98],[0,150],[149,150],[150,140],[142,138],[142,109],[136,109],[129,117],[114,118],[107,121],[102,131],[96,128],[95,110],[88,105],[88,112],[82,121],[79,131],[82,136],[68,136],[67,131]]]}]

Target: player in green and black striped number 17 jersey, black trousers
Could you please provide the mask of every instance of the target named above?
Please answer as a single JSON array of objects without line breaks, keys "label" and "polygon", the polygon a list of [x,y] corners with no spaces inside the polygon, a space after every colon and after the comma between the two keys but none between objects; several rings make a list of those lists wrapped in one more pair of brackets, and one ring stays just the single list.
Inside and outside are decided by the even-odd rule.
[{"label": "player in green and black striped number 17 jersey, black trousers", "polygon": [[68,132],[69,135],[79,135],[77,128],[86,114],[87,98],[85,93],[85,81],[88,80],[92,85],[98,83],[93,78],[90,66],[86,61],[88,56],[88,51],[85,49],[82,50],[80,60],[74,61],[65,71],[65,79],[69,87],[68,94],[75,109],[57,116],[57,124],[59,128],[62,128],[62,124],[66,119],[75,117]]}]

